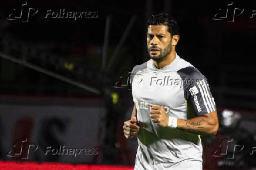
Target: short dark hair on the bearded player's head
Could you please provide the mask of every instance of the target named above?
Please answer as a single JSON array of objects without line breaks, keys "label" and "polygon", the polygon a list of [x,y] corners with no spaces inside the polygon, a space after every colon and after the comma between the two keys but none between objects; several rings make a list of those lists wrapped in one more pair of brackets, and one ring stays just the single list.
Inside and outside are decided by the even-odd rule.
[{"label": "short dark hair on the bearded player's head", "polygon": [[173,35],[178,35],[178,23],[168,13],[159,13],[157,15],[151,15],[147,20],[147,27],[150,25],[166,25],[168,26],[168,32]]}]

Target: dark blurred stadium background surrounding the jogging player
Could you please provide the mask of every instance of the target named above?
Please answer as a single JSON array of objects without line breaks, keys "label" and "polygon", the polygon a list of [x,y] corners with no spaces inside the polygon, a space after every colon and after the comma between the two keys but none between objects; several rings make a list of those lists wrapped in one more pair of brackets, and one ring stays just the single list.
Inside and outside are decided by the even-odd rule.
[{"label": "dark blurred stadium background surrounding the jogging player", "polygon": [[[45,18],[60,9],[97,17]],[[122,85],[149,60],[146,19],[169,12],[180,26],[177,54],[206,75],[218,107],[217,136],[202,137],[204,169],[255,168],[255,10],[255,1],[1,1],[0,167],[132,169],[137,141],[122,130],[132,91]],[[234,150],[221,155],[225,139]],[[45,154],[63,145],[97,154]]]}]

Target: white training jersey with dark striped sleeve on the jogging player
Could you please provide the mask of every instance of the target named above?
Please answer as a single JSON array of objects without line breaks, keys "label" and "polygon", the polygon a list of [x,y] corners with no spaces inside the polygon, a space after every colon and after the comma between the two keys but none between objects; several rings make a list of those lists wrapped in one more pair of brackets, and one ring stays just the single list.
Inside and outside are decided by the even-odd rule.
[{"label": "white training jersey with dark striped sleeve on the jogging player", "polygon": [[136,65],[130,83],[140,122],[134,169],[202,169],[200,135],[153,123],[150,104],[163,106],[167,115],[179,119],[213,112],[216,107],[206,77],[176,53],[174,61],[160,69],[152,59]]}]

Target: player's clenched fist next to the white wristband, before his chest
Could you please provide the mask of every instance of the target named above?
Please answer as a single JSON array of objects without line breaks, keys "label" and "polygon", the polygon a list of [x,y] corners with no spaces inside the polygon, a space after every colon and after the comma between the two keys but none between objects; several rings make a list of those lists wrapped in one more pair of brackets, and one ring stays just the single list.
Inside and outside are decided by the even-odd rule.
[{"label": "player's clenched fist next to the white wristband, before his chest", "polygon": [[169,116],[164,110],[164,107],[159,105],[150,105],[150,118],[152,122],[159,124],[160,126],[166,127],[168,126]]}]

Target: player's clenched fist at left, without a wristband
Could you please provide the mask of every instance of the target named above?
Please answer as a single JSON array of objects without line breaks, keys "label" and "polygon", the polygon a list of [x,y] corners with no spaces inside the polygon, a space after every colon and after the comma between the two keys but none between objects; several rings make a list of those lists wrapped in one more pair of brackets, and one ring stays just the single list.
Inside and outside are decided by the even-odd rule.
[{"label": "player's clenched fist at left, without a wristband", "polygon": [[132,120],[127,120],[123,125],[123,134],[127,139],[133,138],[138,131],[140,126],[137,124],[136,117],[133,117]]}]

